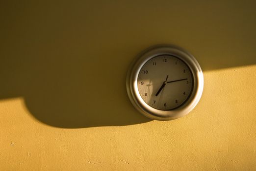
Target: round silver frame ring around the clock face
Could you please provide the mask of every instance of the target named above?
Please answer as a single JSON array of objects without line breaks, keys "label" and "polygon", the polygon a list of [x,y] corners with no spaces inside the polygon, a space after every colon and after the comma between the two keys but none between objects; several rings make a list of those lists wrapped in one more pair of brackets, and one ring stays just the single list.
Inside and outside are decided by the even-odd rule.
[{"label": "round silver frame ring around the clock face", "polygon": [[[140,96],[137,79],[146,62],[160,55],[171,55],[179,58],[190,68],[194,86],[190,97],[178,108],[159,110],[149,106]],[[175,45],[156,45],[140,53],[130,65],[127,73],[126,87],[132,105],[145,116],[154,120],[173,120],[188,114],[198,104],[204,88],[204,76],[197,60],[186,50]]]}]

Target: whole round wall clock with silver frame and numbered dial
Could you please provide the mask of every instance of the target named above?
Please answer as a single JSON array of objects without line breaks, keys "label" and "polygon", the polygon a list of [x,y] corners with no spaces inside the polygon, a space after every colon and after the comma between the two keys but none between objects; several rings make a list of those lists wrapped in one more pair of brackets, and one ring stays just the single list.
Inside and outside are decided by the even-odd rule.
[{"label": "whole round wall clock with silver frame and numbered dial", "polygon": [[133,106],[155,120],[172,120],[189,113],[199,102],[204,76],[196,59],[174,46],[154,46],[131,64],[127,92]]}]

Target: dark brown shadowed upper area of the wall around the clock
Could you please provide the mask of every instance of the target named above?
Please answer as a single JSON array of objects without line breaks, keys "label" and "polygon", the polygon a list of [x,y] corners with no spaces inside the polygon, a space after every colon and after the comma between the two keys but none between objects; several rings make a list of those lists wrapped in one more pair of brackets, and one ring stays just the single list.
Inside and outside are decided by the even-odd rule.
[{"label": "dark brown shadowed upper area of the wall around the clock", "polygon": [[0,2],[0,99],[24,97],[31,115],[53,127],[149,122],[126,93],[134,57],[167,43],[190,51],[203,71],[256,64],[255,6],[203,0]]}]

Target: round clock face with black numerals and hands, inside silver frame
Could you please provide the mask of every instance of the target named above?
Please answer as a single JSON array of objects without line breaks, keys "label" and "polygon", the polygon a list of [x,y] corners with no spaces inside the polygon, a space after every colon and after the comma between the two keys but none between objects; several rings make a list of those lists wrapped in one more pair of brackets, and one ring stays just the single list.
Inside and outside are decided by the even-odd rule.
[{"label": "round clock face with black numerals and hands, inside silver frame", "polygon": [[173,110],[190,97],[194,80],[186,63],[173,55],[159,55],[147,61],[137,78],[141,98],[159,110]]}]

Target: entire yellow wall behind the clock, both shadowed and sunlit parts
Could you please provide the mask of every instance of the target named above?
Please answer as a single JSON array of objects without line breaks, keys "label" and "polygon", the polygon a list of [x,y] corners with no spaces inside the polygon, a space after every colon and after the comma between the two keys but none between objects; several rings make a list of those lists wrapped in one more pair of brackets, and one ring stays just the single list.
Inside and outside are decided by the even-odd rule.
[{"label": "entire yellow wall behind the clock, both shadowed and sunlit parts", "polygon": [[[256,2],[0,2],[0,171],[255,171]],[[159,43],[201,64],[183,118],[134,109],[126,72]]]}]

